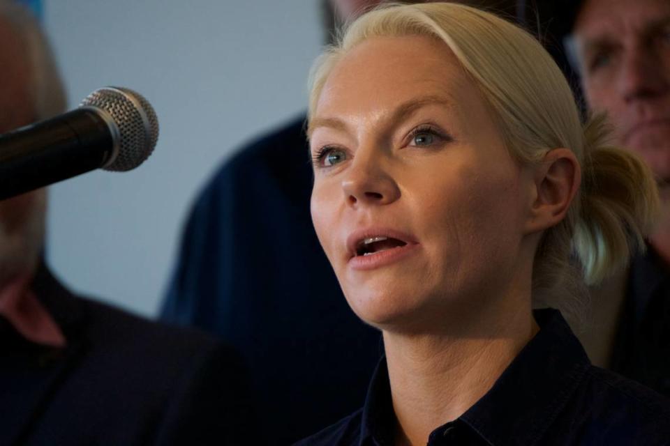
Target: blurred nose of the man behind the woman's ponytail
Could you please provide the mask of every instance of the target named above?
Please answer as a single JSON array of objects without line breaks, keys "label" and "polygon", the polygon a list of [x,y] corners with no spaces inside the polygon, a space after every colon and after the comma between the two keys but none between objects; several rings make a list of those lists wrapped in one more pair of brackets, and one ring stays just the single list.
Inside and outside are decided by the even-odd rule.
[{"label": "blurred nose of the man behind the woman's ponytail", "polygon": [[637,45],[625,51],[618,84],[626,102],[652,99],[667,93],[668,80],[664,60],[653,49]]}]

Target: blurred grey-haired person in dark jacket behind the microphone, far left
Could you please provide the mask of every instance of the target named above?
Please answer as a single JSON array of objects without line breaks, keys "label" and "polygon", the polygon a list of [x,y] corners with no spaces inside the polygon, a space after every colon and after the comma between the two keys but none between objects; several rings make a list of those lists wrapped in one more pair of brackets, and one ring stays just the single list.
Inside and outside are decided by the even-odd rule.
[{"label": "blurred grey-haired person in dark jacket behind the microphone, far left", "polygon": [[[45,37],[7,1],[0,66],[0,134],[65,111]],[[239,355],[70,293],[43,259],[46,207],[44,189],[0,201],[0,444],[262,444]]]}]

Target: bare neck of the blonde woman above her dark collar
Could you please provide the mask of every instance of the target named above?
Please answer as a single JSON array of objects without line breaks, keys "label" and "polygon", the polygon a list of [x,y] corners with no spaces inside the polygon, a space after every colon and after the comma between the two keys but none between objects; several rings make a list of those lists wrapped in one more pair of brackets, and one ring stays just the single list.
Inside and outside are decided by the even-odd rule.
[{"label": "bare neck of the blonde woman above her dark collar", "polygon": [[501,299],[501,305],[478,309],[451,333],[384,332],[399,445],[425,445],[431,431],[456,420],[493,387],[539,330],[530,297],[521,301]]}]

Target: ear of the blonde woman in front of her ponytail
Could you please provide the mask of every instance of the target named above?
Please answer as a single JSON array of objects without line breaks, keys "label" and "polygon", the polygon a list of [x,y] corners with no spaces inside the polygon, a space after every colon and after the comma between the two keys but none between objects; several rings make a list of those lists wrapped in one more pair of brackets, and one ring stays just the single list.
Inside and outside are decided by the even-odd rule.
[{"label": "ear of the blonde woman in front of her ponytail", "polygon": [[563,220],[581,184],[581,167],[567,148],[547,152],[534,169],[526,233],[544,231]]}]

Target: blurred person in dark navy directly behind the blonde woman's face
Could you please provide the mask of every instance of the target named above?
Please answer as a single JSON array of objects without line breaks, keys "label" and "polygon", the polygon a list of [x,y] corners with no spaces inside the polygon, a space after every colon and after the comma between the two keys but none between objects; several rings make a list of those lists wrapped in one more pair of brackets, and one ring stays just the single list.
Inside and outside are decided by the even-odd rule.
[{"label": "blurred person in dark navy directly behind the blonde woman's face", "polygon": [[[324,2],[327,40],[378,3]],[[381,353],[378,332],[347,307],[314,233],[304,121],[244,146],[208,181],[188,216],[162,313],[244,355],[275,445],[360,406]]]}]

